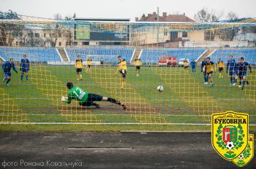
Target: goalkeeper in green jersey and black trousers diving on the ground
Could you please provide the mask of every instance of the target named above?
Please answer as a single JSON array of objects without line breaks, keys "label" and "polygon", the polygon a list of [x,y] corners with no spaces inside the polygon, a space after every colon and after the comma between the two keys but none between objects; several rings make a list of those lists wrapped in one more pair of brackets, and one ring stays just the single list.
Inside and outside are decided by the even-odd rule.
[{"label": "goalkeeper in green jersey and black trousers diving on the ground", "polygon": [[74,86],[73,82],[67,82],[67,88],[69,89],[67,97],[63,96],[61,98],[61,101],[64,101],[65,103],[69,104],[74,99],[79,102],[80,106],[96,106],[96,108],[99,108],[99,104],[94,103],[94,101],[108,101],[122,106],[124,110],[127,109],[127,107],[120,101],[116,101],[114,98],[107,98],[102,95],[84,92],[80,87]]}]

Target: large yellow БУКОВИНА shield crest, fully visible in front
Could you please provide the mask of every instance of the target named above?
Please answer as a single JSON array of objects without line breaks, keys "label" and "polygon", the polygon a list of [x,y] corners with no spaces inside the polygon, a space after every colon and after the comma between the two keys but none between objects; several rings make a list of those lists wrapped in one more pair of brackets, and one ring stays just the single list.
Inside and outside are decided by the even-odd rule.
[{"label": "large yellow \u0411\u0423\u041a\u041e\u0412\u0418\u041d\u0410 shield crest, fully visible in front", "polygon": [[225,160],[238,157],[248,144],[248,114],[227,111],[211,115],[211,144]]}]

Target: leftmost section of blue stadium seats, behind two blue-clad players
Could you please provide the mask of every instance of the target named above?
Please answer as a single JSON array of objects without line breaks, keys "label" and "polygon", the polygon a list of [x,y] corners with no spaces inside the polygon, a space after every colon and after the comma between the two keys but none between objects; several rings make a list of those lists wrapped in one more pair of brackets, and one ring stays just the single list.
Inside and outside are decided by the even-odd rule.
[{"label": "leftmost section of blue stadium seats, behind two blue-clad players", "polygon": [[61,61],[55,47],[0,47],[0,57],[4,60],[20,61],[24,53],[31,62]]}]

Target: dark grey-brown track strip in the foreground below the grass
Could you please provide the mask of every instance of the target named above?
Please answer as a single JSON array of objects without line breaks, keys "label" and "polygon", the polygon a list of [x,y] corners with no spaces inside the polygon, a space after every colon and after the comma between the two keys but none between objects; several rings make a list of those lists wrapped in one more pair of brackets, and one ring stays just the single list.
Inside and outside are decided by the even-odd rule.
[{"label": "dark grey-brown track strip in the foreground below the grass", "polygon": [[[236,168],[214,152],[210,133],[1,132],[0,160],[1,168],[3,162],[20,168],[20,160],[82,165],[75,168]],[[256,157],[246,168],[255,167]]]}]

